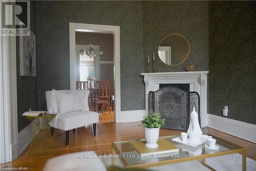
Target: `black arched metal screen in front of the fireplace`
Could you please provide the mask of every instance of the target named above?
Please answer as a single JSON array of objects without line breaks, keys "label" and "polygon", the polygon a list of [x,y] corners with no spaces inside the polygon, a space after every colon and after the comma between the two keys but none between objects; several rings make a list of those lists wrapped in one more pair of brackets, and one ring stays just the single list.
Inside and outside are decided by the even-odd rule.
[{"label": "black arched metal screen in front of the fireplace", "polygon": [[[177,87],[166,86],[148,94],[148,113],[160,113],[165,119],[164,129],[186,131],[190,110],[195,106],[200,114],[200,101],[197,92],[183,91]],[[193,99],[191,99],[191,97]],[[199,110],[199,111],[198,111]]]}]

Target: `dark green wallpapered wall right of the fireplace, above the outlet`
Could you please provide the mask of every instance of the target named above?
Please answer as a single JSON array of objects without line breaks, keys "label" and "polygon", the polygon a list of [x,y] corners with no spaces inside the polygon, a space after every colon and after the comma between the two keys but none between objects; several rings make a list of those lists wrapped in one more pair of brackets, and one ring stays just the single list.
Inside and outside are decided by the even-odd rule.
[{"label": "dark green wallpapered wall right of the fireplace, above the outlet", "polygon": [[256,124],[256,3],[209,2],[209,113]]}]

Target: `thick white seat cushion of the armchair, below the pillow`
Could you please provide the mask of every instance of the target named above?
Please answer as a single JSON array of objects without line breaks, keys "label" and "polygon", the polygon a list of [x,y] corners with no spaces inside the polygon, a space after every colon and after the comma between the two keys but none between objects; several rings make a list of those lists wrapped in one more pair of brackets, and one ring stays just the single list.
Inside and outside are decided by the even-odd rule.
[{"label": "thick white seat cushion of the armchair, below the pillow", "polygon": [[98,113],[91,111],[76,111],[59,115],[56,121],[56,126],[54,125],[54,122],[50,122],[49,125],[60,130],[68,131],[97,122],[99,122]]}]

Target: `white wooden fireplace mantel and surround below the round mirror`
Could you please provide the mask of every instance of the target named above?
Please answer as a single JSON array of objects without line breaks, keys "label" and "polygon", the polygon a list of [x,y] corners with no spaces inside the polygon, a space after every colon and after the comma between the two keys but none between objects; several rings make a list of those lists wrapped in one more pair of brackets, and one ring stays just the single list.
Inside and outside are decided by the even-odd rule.
[{"label": "white wooden fireplace mantel and surround below the round mirror", "polygon": [[[199,109],[196,109],[196,111],[201,114],[201,127],[204,127],[207,124],[207,73],[208,71],[141,73],[145,82],[145,113],[153,112],[150,107],[151,104],[148,103],[151,91],[156,92],[165,86],[170,86],[170,84],[175,84],[172,85],[175,87],[177,84],[189,84],[189,90],[187,91],[189,92],[187,94],[189,100],[187,105],[189,107],[187,107],[187,112],[190,114],[189,110],[193,109],[195,102],[200,104],[200,111]],[[184,91],[183,88],[179,89]],[[196,98],[199,96],[200,100]],[[191,97],[194,97],[194,99],[191,99]]]}]

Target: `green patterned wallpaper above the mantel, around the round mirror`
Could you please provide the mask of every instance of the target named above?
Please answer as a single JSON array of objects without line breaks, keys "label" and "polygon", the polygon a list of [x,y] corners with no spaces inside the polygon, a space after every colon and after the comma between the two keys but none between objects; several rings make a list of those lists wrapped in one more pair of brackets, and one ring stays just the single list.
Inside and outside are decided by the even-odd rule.
[{"label": "green patterned wallpaper above the mantel, around the round mirror", "polygon": [[179,33],[190,44],[188,58],[178,66],[164,65],[156,58],[156,72],[186,71],[186,65],[199,65],[208,71],[208,2],[202,1],[144,1],[143,57],[147,72],[147,56],[157,54],[161,39]]}]

